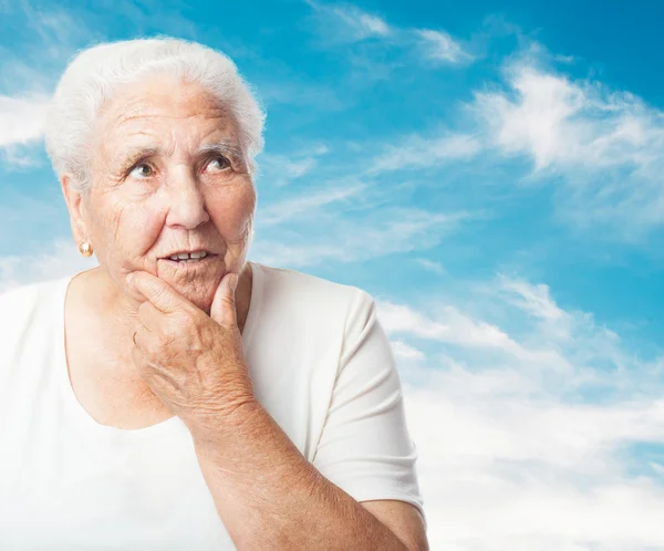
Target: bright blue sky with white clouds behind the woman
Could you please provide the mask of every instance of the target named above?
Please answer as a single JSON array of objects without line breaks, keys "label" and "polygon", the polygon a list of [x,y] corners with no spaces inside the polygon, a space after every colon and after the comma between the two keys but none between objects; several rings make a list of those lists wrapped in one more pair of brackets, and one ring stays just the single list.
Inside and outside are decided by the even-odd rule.
[{"label": "bright blue sky with white clouds behind the woman", "polygon": [[0,0],[0,288],[89,266],[40,139],[68,59],[200,41],[268,112],[249,258],[378,302],[433,549],[664,549],[662,21],[639,1]]}]

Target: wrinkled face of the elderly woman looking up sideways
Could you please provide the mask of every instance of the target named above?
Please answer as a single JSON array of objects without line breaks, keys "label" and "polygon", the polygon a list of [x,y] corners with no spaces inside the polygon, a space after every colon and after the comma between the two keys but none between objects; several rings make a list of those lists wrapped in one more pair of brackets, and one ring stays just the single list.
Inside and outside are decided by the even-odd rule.
[{"label": "wrinkled face of the elderly woman looking up sideways", "polygon": [[[93,135],[92,186],[73,209],[82,238],[121,289],[145,270],[209,311],[245,263],[256,208],[237,123],[198,85],[157,75],[120,90]],[[208,257],[168,258],[183,251]]]}]

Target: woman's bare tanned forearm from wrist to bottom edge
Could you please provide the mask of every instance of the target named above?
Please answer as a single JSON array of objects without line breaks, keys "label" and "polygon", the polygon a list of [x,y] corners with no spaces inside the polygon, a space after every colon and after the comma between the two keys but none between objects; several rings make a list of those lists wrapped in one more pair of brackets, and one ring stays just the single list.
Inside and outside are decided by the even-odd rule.
[{"label": "woman's bare tanned forearm from wrist to bottom edge", "polygon": [[407,551],[325,479],[258,402],[193,436],[219,517],[239,550]]}]

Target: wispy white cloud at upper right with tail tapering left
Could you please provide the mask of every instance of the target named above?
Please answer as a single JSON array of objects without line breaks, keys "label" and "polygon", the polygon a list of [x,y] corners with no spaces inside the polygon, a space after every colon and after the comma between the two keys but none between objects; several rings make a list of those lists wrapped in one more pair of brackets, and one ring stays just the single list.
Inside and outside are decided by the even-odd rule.
[{"label": "wispy white cloud at upper right with tail tapering left", "polygon": [[[507,181],[562,187],[554,216],[570,228],[632,243],[662,229],[664,111],[602,82],[571,79],[543,58],[533,45],[508,59],[502,82],[476,91],[463,117],[384,145],[365,174],[470,159],[483,170],[525,159],[531,169],[512,167]],[[475,183],[483,177],[478,171]]]}]

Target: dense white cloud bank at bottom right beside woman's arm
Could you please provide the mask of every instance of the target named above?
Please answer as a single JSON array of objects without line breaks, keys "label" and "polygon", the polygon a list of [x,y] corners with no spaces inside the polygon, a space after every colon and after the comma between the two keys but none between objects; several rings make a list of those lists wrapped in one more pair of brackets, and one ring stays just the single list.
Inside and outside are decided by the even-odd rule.
[{"label": "dense white cloud bank at bottom right beside woman's arm", "polygon": [[664,545],[662,486],[621,462],[630,441],[662,439],[662,402],[575,407],[494,397],[468,372],[423,378],[404,394],[432,549]]}]

